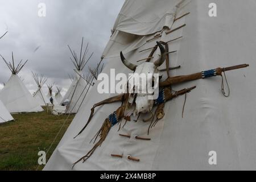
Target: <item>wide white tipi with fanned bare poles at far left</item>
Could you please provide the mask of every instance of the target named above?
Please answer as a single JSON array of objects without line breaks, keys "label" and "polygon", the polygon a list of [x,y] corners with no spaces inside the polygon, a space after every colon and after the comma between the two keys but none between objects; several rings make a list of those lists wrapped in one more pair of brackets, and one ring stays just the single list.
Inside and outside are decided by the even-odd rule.
[{"label": "wide white tipi with fanned bare poles at far left", "polygon": [[[1,56],[2,57],[2,56]],[[14,65],[13,53],[12,53],[12,63],[7,63],[7,61],[2,57],[6,65],[9,67],[12,75],[7,81],[5,87],[0,92],[0,100],[6,106],[10,113],[22,113],[22,112],[38,112],[43,111],[42,107],[33,98],[31,93],[28,91],[26,86],[18,77],[18,73],[27,63],[27,61],[22,64],[22,61],[18,65]]]}]

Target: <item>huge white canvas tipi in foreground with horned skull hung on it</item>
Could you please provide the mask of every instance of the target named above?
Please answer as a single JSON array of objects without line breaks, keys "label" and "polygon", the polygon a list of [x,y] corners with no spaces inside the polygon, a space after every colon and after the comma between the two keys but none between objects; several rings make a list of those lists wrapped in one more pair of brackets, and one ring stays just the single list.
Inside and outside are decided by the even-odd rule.
[{"label": "huge white canvas tipi in foreground with horned skull hung on it", "polygon": [[[149,134],[150,122],[140,119],[134,122],[136,118],[131,118],[123,126],[122,121],[121,127],[112,126],[101,146],[84,163],[77,163],[74,170],[256,169],[256,36],[255,23],[251,23],[256,19],[256,3],[214,2],[217,17],[208,15],[210,0],[125,1],[103,53],[108,61],[103,72],[110,75],[110,69],[115,69],[116,74],[131,73],[121,62],[120,51],[127,60],[138,64],[138,60],[150,55],[156,41],[162,41],[168,44],[170,52],[177,51],[169,54],[170,67],[181,65],[180,69],[170,71],[170,76],[250,64],[249,68],[226,72],[230,96],[222,95],[220,76],[174,85],[173,90],[197,86],[187,93],[183,117],[185,96],[180,96],[166,102],[163,119]],[[158,54],[159,50],[152,56]],[[165,64],[160,69],[164,67]],[[203,77],[205,73],[214,75],[214,71],[199,75]],[[165,79],[167,73],[162,74]],[[97,107],[84,132],[73,139],[85,126],[92,106],[116,95],[99,94],[98,83],[86,97],[45,170],[71,170],[73,163],[93,148],[95,143],[90,141],[105,119],[121,105],[117,102]],[[139,161],[130,160],[131,157]]]}]

